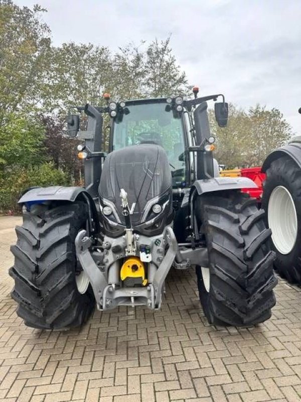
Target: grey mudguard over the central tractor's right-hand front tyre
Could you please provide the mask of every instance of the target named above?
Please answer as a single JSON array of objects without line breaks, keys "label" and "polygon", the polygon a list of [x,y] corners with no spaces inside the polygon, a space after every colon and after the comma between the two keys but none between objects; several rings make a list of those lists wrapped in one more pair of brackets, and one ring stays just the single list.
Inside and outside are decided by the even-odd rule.
[{"label": "grey mudguard over the central tractor's right-hand front tyre", "polygon": [[196,180],[191,190],[196,189],[198,194],[201,195],[206,192],[239,188],[258,188],[258,186],[247,177],[212,177],[208,180]]}]

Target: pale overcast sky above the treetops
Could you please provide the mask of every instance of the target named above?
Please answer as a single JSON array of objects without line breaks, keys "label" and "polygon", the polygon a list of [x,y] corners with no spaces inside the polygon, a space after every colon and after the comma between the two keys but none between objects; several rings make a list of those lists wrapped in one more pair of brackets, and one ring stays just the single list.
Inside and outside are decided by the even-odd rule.
[{"label": "pale overcast sky above the treetops", "polygon": [[166,39],[189,83],[248,108],[278,108],[301,134],[300,0],[17,0],[48,10],[53,42],[116,50]]}]

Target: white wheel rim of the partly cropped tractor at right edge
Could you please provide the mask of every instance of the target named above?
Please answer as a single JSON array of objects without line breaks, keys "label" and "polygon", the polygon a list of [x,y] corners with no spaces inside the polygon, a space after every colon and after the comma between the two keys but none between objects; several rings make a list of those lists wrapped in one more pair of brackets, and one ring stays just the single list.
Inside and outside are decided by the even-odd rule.
[{"label": "white wheel rim of the partly cropped tractor at right edge", "polygon": [[272,231],[272,241],[281,254],[293,249],[298,231],[298,221],[292,196],[286,187],[275,187],[268,202],[268,226]]}]

